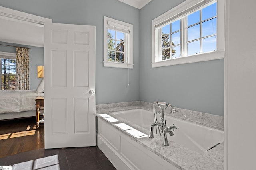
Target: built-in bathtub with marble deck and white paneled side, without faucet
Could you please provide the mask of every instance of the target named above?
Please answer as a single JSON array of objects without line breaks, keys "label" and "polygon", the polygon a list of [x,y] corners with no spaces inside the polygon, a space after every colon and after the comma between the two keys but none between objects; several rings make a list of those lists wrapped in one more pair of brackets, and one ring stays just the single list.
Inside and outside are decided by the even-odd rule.
[{"label": "built-in bathtub with marble deck and white paneled side, without faucet", "polygon": [[[177,129],[174,130],[174,136],[167,134],[169,146],[163,146],[163,135],[156,134],[155,127],[154,138],[148,137],[154,122],[153,112],[145,110],[148,107],[130,108],[125,111],[116,111],[121,110],[119,108],[96,110],[96,144],[116,169],[224,169],[223,131],[165,114],[166,125],[175,124]],[[120,128],[119,124],[128,125],[144,135],[130,135],[127,133],[130,130]],[[210,149],[218,143],[220,145]]]}]

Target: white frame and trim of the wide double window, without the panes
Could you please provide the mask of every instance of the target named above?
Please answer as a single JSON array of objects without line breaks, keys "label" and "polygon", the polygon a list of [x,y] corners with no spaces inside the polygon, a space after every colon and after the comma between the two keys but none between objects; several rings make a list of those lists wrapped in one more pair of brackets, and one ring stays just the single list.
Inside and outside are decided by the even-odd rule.
[{"label": "white frame and trim of the wide double window, without the panes", "polygon": [[[168,60],[159,60],[159,47],[157,47],[158,41],[158,33],[156,32],[156,27],[159,25],[164,25],[170,21],[178,20],[186,16],[189,13],[192,13],[195,10],[198,10],[204,4],[208,4],[210,2],[217,2],[217,50],[208,53],[200,53],[196,55],[184,56],[175,59]],[[208,61],[215,59],[223,59],[224,58],[224,31],[225,31],[225,0],[186,0],[175,6],[171,10],[165,12],[161,16],[158,16],[154,20],[152,20],[152,67],[162,67],[162,66],[170,66],[176,64],[185,64],[185,63],[194,63],[200,61]],[[160,37],[161,38],[161,37]],[[184,37],[181,41],[186,41]],[[159,49],[159,50],[158,50]],[[162,56],[161,56],[162,57]]]}]

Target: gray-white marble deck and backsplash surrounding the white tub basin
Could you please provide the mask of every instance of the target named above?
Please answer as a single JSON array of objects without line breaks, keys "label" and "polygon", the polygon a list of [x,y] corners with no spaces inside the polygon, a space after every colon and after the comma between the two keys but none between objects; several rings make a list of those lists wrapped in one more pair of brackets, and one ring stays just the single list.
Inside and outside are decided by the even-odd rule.
[{"label": "gray-white marble deck and backsplash surrounding the white tub basin", "polygon": [[[211,115],[207,113],[201,113],[196,111],[190,111],[186,109],[180,109],[174,107],[178,112],[172,113],[172,117],[190,121],[192,123],[204,125],[214,129],[222,130],[224,126],[224,117]],[[135,125],[121,117],[114,115],[112,112],[124,111],[131,109],[145,109],[152,111],[152,103],[136,101],[136,102],[123,102],[115,104],[100,104],[96,105],[96,115],[98,119],[102,119],[108,124],[126,123],[127,125],[134,127],[135,129],[149,134],[150,129],[144,129],[138,125]],[[168,110],[165,113],[169,113]],[[119,120],[119,122],[110,123],[106,119],[98,116],[98,114],[108,114]],[[170,115],[168,115],[170,116]],[[213,149],[200,154],[194,150],[190,150],[182,145],[169,141],[169,146],[163,146],[163,137],[155,135],[153,139],[148,137],[135,138],[122,129],[114,126],[118,131],[121,131],[126,136],[130,137],[146,149],[154,152],[170,164],[176,166],[180,170],[223,170],[224,169],[224,143],[220,143]]]}]

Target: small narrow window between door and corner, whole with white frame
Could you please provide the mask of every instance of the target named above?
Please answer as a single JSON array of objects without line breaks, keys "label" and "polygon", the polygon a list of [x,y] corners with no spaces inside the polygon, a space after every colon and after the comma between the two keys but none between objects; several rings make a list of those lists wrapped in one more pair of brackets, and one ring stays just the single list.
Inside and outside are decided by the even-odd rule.
[{"label": "small narrow window between door and corner, whole with white frame", "polygon": [[104,16],[104,66],[133,68],[132,25]]}]

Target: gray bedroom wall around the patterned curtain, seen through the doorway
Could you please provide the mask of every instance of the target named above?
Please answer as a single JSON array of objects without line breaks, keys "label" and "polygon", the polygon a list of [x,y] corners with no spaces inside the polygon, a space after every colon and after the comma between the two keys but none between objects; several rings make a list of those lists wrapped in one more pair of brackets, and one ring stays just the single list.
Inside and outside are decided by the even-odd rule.
[{"label": "gray bedroom wall around the patterned curtain, seen through the doorway", "polygon": [[[29,45],[5,43],[5,42],[0,42],[0,44],[30,48],[30,50],[29,50],[30,89],[36,89],[41,80],[41,79],[37,78],[37,66],[44,65],[44,48],[34,47],[34,46],[29,46]],[[8,53],[16,53],[16,48],[0,45],[0,51],[8,52]]]}]

